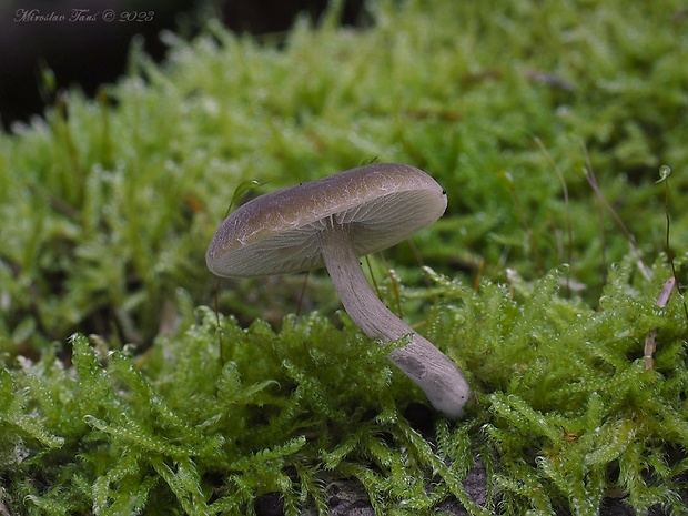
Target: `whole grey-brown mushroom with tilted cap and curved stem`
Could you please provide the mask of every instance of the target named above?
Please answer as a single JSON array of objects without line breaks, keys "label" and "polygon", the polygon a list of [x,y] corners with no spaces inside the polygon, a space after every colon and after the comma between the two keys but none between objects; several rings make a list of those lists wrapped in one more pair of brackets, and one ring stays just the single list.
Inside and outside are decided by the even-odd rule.
[{"label": "whole grey-brown mushroom with tilted cap and curved stem", "polygon": [[456,418],[471,389],[456,365],[375,295],[358,256],[387,249],[444,213],[446,192],[422,170],[376,163],[266,193],[232,212],[208,247],[225,277],[285,274],[325,265],[350,317],[371,338],[411,335],[387,357],[433,406]]}]

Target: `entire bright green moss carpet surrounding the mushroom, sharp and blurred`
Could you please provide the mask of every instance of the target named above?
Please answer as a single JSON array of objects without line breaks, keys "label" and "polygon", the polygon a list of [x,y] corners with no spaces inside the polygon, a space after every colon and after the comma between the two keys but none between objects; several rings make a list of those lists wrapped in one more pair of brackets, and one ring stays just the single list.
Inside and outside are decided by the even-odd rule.
[{"label": "entire bright green moss carpet surrounding the mushroom, sharp and blurred", "polygon": [[[0,135],[3,512],[254,514],[275,493],[327,514],[350,478],[378,514],[686,514],[688,321],[676,291],[658,305],[688,259],[681,2],[380,1],[357,29],[335,6],[275,41],[166,39],[163,65],[134,48],[98,99]],[[462,422],[411,416],[398,344],[335,313],[322,274],[303,295],[225,282],[208,307],[239,184],[372,159],[447,190],[372,269],[475,386]]]}]

